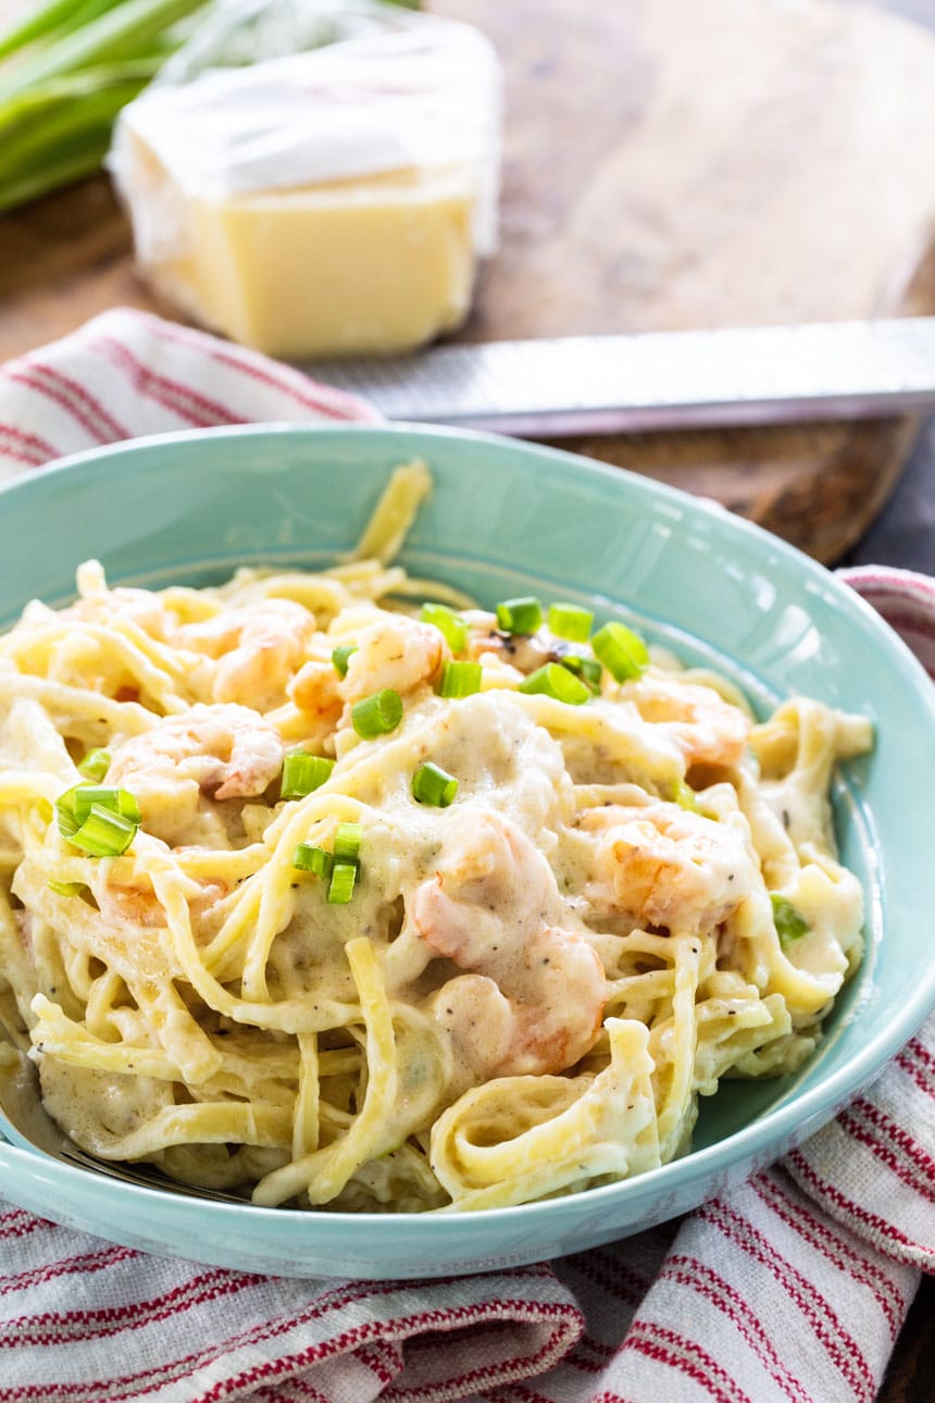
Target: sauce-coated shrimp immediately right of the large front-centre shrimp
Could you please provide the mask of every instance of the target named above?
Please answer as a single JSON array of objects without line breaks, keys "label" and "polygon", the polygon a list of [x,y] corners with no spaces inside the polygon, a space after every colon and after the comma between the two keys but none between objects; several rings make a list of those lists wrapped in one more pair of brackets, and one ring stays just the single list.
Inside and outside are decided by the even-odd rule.
[{"label": "sauce-coated shrimp immediately right of the large front-centre shrimp", "polygon": [[750,856],[728,824],[678,804],[589,810],[580,828],[599,835],[589,898],[649,926],[711,930],[753,888]]}]

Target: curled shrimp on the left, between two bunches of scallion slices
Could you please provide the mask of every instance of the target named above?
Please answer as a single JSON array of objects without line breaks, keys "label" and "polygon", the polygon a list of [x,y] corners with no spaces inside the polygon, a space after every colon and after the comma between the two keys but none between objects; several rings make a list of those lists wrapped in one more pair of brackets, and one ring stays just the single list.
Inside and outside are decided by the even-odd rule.
[{"label": "curled shrimp on the left, between two bunches of scallion slices", "polygon": [[116,746],[107,780],[135,794],[147,832],[191,842],[202,796],[262,794],[285,753],[279,732],[250,707],[199,704]]}]

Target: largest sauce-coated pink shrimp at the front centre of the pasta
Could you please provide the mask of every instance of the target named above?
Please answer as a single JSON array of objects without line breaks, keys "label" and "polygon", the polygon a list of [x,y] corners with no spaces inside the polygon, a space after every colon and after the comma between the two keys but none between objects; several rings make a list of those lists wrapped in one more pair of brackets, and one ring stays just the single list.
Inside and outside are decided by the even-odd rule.
[{"label": "largest sauce-coated pink shrimp at the front centre of the pasta", "polygon": [[472,1070],[561,1072],[593,1045],[607,999],[597,953],[558,925],[561,898],[545,857],[509,819],[464,817],[411,915],[437,955],[465,971],[432,1012]]}]

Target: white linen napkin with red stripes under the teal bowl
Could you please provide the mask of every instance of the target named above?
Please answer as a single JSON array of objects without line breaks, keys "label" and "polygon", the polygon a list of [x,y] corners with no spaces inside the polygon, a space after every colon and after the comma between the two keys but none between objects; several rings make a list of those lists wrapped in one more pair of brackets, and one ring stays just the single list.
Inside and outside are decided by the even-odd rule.
[{"label": "white linen napkin with red stripes under the teal bowl", "polygon": [[[116,310],[0,368],[0,480],[140,434],[367,418],[262,356]],[[935,581],[845,578],[935,678]],[[0,1403],[869,1403],[934,1270],[929,1016],[782,1164],[678,1225],[526,1268],[259,1277],[0,1201]]]}]

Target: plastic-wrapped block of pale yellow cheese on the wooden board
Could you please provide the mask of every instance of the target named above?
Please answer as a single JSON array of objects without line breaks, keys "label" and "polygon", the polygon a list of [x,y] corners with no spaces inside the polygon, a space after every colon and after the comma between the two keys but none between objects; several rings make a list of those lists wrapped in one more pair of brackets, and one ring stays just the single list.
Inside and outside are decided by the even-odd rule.
[{"label": "plastic-wrapped block of pale yellow cheese on the wooden board", "polygon": [[[496,55],[470,25],[369,0],[292,10],[318,24],[293,42],[321,46],[227,67],[202,35],[198,62],[182,51],[123,108],[109,166],[137,264],[269,355],[411,349],[464,320],[496,246]],[[230,32],[237,6],[220,13]]]}]

